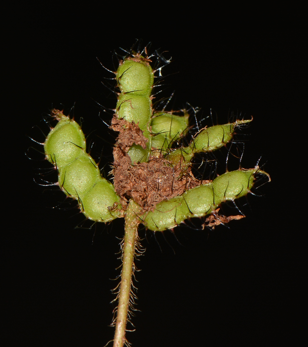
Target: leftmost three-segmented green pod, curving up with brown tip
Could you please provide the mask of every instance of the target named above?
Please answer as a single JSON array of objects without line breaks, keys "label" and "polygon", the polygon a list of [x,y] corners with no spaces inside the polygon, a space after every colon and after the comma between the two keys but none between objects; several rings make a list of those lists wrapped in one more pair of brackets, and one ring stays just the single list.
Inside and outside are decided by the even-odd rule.
[{"label": "leftmost three-segmented green pod, curving up with brown tip", "polygon": [[53,110],[57,125],[45,143],[46,158],[58,169],[61,190],[78,200],[91,220],[109,222],[121,216],[120,197],[113,184],[101,177],[99,168],[85,151],[85,137],[80,126],[58,110]]}]

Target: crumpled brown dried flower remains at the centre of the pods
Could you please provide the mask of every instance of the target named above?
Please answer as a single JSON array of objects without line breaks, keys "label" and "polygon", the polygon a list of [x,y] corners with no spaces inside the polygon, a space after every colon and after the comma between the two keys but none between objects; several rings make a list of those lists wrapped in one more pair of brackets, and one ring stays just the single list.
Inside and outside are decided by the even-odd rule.
[{"label": "crumpled brown dried flower remains at the centre of the pods", "polygon": [[150,211],[159,202],[200,185],[190,167],[185,168],[185,172],[174,168],[163,154],[150,157],[148,162],[132,163],[128,149],[134,143],[145,149],[148,139],[134,123],[114,117],[111,124],[111,128],[119,132],[113,151],[113,174],[115,190],[122,198],[133,198],[143,210]]}]

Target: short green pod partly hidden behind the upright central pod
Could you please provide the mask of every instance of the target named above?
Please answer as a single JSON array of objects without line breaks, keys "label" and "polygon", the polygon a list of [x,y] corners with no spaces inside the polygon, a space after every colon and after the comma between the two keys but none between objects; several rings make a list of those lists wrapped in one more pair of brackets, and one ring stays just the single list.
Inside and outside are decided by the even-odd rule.
[{"label": "short green pod partly hidden behind the upright central pod", "polygon": [[152,147],[157,149],[169,149],[173,142],[185,136],[188,132],[189,114],[184,111],[184,116],[176,116],[173,113],[156,112],[151,121]]}]

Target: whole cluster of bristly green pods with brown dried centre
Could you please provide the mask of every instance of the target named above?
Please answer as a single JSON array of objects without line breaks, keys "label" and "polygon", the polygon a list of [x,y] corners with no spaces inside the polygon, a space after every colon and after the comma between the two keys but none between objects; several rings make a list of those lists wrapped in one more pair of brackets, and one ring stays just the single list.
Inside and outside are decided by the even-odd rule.
[{"label": "whole cluster of bristly green pods with brown dried centre", "polygon": [[[58,184],[78,200],[95,222],[124,217],[127,202],[140,205],[140,221],[148,229],[171,229],[185,219],[215,214],[220,204],[250,192],[259,167],[226,172],[213,181],[198,181],[191,172],[196,153],[219,149],[232,141],[237,126],[251,120],[201,129],[189,146],[172,149],[188,132],[189,115],[153,110],[155,71],[139,53],[119,62],[115,73],[118,101],[111,129],[119,136],[114,147],[114,184],[103,178],[86,153],[81,127],[58,110],[58,120],[44,143],[46,158],[58,170]],[[268,176],[268,175],[267,175]]]}]

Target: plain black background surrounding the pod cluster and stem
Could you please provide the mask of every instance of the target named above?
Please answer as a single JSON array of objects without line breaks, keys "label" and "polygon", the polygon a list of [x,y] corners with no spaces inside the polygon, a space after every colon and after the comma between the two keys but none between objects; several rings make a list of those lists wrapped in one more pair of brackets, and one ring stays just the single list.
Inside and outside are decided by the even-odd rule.
[{"label": "plain black background surrounding the pod cluster and stem", "polygon": [[[136,263],[140,312],[128,340],[135,347],[298,345],[306,250],[301,164],[307,152],[300,10],[233,17],[158,6],[141,20],[136,10],[8,11],[2,114],[8,203],[1,233],[6,345],[94,347],[113,338],[110,290],[117,281],[110,279],[119,274],[123,220],[98,226],[94,238],[94,229],[76,229],[82,216],[52,209],[63,196],[34,183],[41,164],[24,153],[32,146],[26,135],[42,140],[32,127],[44,128],[42,117],[52,107],[68,113],[74,103],[76,119],[95,130],[91,139],[100,152],[95,136],[105,137],[106,127],[95,101],[111,107],[113,101],[100,83],[110,75],[96,57],[112,69],[112,52],[130,48],[136,38],[172,56],[163,73],[176,73],[165,92],[176,90],[175,108],[188,101],[201,107],[200,117],[213,108],[220,123],[230,110],[253,115],[243,167],[254,167],[262,155],[272,182],[260,188],[264,196],[249,196],[246,218],[230,229],[180,227],[180,243],[170,232],[164,233],[167,242],[147,233],[141,241],[146,252]],[[108,157],[111,147],[103,145]]]}]

